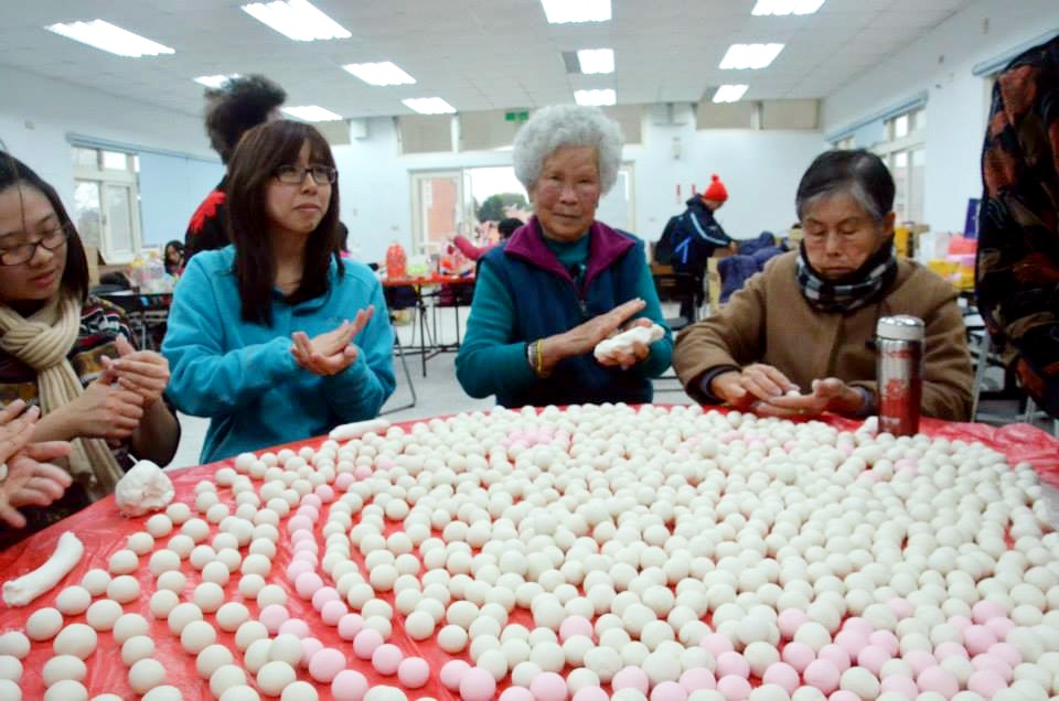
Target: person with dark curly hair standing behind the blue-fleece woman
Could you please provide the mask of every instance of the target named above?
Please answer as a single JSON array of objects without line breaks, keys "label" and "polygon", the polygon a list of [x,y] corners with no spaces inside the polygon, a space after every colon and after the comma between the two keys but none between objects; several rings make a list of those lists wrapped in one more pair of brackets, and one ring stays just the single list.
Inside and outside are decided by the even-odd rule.
[{"label": "person with dark curly hair standing behind the blue-fleece woman", "polygon": [[[279,108],[287,99],[284,88],[263,75],[229,78],[218,88],[206,88],[206,133],[210,145],[225,168],[244,133],[254,127],[280,118]],[[202,201],[191,216],[184,235],[183,266],[203,250],[224,248],[232,241],[225,228],[225,201],[228,176]]]}]

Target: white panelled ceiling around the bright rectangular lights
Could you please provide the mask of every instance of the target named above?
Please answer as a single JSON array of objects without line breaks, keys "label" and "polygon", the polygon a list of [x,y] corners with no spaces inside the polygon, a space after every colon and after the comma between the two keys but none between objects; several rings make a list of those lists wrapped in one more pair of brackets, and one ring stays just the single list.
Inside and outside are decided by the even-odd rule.
[{"label": "white panelled ceiling around the bright rectangular lights", "polygon": [[[246,1],[246,0],[243,0]],[[409,114],[403,98],[442,97],[458,110],[569,103],[579,88],[613,87],[619,104],[698,101],[723,83],[745,99],[826,97],[886,61],[972,0],[826,0],[807,17],[751,17],[753,0],[613,0],[613,20],[548,24],[538,0],[314,0],[352,39],[293,42],[239,9],[239,0],[0,2],[0,65],[197,116],[191,78],[264,73],[289,105],[343,117]],[[122,58],[42,29],[104,19],[176,50]],[[764,71],[719,71],[737,42],[782,42]],[[568,75],[561,52],[612,47],[613,75]],[[393,61],[416,85],[371,87],[347,63]]]}]

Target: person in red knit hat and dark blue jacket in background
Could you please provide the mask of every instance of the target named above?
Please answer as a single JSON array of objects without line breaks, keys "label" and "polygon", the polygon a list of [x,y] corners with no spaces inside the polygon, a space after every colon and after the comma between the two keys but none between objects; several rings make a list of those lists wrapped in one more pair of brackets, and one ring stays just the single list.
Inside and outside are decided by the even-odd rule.
[{"label": "person in red knit hat and dark blue jacket in background", "polygon": [[735,247],[735,241],[714,217],[714,212],[727,201],[728,190],[715,173],[703,194],[693,196],[682,214],[670,218],[655,249],[656,262],[672,265],[674,271],[695,277],[695,299],[681,302],[681,316],[688,322],[696,321],[696,311],[706,299],[703,288],[706,261],[717,248]]}]

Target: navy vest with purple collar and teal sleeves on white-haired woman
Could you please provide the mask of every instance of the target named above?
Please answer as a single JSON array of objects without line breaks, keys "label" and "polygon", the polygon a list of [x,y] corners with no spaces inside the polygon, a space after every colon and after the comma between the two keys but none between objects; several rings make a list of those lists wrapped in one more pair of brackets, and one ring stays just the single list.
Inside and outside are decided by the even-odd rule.
[{"label": "navy vest with purple collar and teal sleeves on white-haired woman", "polygon": [[[666,328],[643,363],[620,370],[601,366],[588,353],[561,360],[547,379],[530,368],[528,342],[566,332],[638,296],[648,305],[637,316]],[[557,244],[544,238],[534,217],[481,259],[456,373],[471,397],[496,395],[505,407],[639,403],[651,401],[651,378],[665,371],[672,352],[642,241],[596,222],[577,242]]]}]

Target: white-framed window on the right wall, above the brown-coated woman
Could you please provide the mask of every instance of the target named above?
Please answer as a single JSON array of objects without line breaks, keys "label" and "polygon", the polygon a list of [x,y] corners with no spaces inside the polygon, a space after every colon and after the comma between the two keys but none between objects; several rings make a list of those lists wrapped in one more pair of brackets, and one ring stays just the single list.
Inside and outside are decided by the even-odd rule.
[{"label": "white-framed window on the right wall, above the brown-coated woman", "polygon": [[898,222],[923,222],[927,172],[927,108],[914,107],[886,120],[886,141],[871,149],[881,158],[897,192],[894,212]]}]

